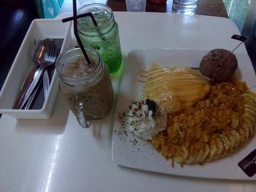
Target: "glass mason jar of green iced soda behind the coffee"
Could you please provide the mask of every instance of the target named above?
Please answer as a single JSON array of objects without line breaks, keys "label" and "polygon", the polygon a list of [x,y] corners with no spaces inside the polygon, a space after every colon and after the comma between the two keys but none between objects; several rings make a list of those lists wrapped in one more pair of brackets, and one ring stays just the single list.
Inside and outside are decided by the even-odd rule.
[{"label": "glass mason jar of green iced soda behind the coffee", "polygon": [[114,74],[121,66],[121,46],[113,12],[104,4],[88,4],[78,10],[78,15],[86,12],[94,15],[97,26],[90,17],[80,18],[78,35],[84,47],[93,47],[99,52],[110,74]]}]

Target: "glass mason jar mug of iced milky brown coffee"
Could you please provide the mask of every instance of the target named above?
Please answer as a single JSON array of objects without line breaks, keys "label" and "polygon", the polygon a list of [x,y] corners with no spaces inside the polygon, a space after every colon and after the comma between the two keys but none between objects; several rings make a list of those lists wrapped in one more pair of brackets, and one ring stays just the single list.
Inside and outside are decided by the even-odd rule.
[{"label": "glass mason jar mug of iced milky brown coffee", "polygon": [[103,64],[96,50],[87,47],[86,53],[91,65],[80,47],[69,48],[56,61],[61,95],[84,128],[90,126],[90,120],[107,117],[113,105],[108,66]]}]

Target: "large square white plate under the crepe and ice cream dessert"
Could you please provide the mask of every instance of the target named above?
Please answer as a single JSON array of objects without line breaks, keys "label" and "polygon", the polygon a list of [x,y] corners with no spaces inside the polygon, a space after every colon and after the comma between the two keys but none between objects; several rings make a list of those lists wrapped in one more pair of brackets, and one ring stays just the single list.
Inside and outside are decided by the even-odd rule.
[{"label": "large square white plate under the crepe and ice cream dessert", "polygon": [[[121,166],[135,169],[143,169],[151,172],[176,174],[189,177],[205,177],[219,179],[256,180],[256,174],[248,177],[238,166],[246,155],[255,150],[256,138],[251,139],[241,150],[232,155],[200,165],[185,165],[183,168],[178,164],[171,167],[171,161],[167,161],[149,142],[124,132],[118,120],[119,114],[127,110],[130,101],[138,101],[142,96],[143,83],[138,81],[138,70],[147,70],[152,62],[163,66],[193,66],[200,64],[200,60],[208,50],[132,50],[128,55],[128,63],[121,80],[120,91],[117,101],[115,118],[113,123],[113,161]],[[238,58],[238,70],[236,76],[245,80],[249,87],[256,85],[255,72],[249,56],[236,54]],[[255,91],[255,90],[254,90]]]}]

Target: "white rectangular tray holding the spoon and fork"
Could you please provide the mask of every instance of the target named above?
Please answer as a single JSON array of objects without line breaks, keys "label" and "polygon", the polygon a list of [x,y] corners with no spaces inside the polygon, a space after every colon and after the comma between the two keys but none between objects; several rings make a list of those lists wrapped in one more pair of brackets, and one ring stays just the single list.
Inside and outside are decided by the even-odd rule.
[{"label": "white rectangular tray holding the spoon and fork", "polygon": [[[54,101],[58,93],[59,81],[56,72],[53,73],[50,82],[48,96],[40,110],[12,110],[15,99],[27,74],[34,66],[32,50],[35,39],[61,38],[64,42],[61,51],[67,47],[67,38],[70,34],[70,23],[62,23],[61,20],[37,19],[33,20],[29,30],[23,39],[20,49],[15,57],[7,79],[0,93],[0,113],[10,115],[18,119],[48,119],[53,110]],[[70,37],[69,37],[70,38]]]}]

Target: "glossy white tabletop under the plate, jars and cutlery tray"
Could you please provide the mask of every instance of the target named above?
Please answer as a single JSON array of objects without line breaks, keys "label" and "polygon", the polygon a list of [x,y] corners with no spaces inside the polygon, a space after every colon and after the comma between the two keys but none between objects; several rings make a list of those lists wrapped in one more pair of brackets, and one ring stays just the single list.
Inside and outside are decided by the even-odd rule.
[{"label": "glossy white tabletop under the plate, jars and cutlery tray", "polygon": [[[225,18],[115,12],[124,56],[135,48],[232,50],[239,34]],[[63,16],[64,17],[64,16]],[[246,53],[239,47],[236,52]],[[116,93],[118,78],[113,79]],[[111,115],[81,128],[59,95],[50,120],[0,119],[0,191],[255,191],[256,182],[142,172],[112,160]],[[222,167],[219,167],[222,169]]]}]

